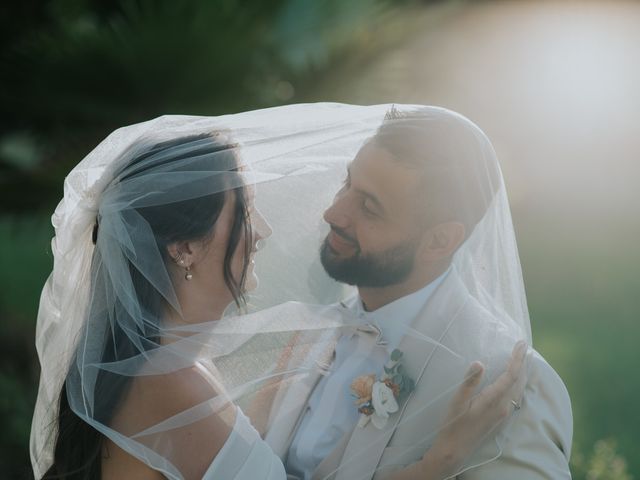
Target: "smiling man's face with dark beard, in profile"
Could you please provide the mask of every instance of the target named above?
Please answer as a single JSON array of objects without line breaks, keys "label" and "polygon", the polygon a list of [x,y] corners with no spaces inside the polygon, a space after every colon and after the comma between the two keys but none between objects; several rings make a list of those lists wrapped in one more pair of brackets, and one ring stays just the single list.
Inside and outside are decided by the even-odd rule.
[{"label": "smiling man's face with dark beard, in profile", "polygon": [[419,172],[368,142],[324,213],[331,227],[320,251],[327,273],[359,287],[386,287],[406,280],[422,236],[419,187]]}]

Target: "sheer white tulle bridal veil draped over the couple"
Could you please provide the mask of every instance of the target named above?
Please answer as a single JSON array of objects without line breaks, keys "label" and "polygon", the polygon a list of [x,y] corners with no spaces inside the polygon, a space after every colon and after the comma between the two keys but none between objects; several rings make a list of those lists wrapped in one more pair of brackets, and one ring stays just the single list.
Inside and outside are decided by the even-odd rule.
[{"label": "sheer white tulle bridal veil draped over the couple", "polygon": [[[220,117],[164,116],[116,130],[70,172],[52,218],[54,269],[38,313],[42,373],[31,431],[37,478],[53,461],[65,384],[77,416],[168,478],[178,479],[184,477],[181,457],[187,448],[181,443],[181,427],[204,422],[230,401],[260,424],[273,416],[273,392],[304,381],[318,365],[330,362],[335,340],[349,323],[348,314],[334,305],[353,291],[331,280],[320,264],[318,250],[328,231],[322,214],[339,190],[346,166],[390,108],[311,104]],[[495,319],[489,328],[500,335],[479,340],[486,342],[480,360],[493,378],[504,364],[492,363],[492,355],[509,352],[518,339],[531,342],[495,153],[464,117],[435,107],[396,108],[422,109],[434,125],[442,121],[462,132],[463,140],[448,143],[442,133],[433,134],[434,144],[446,143],[434,150],[443,162],[455,161],[451,155],[478,159],[473,175],[482,185],[486,213],[456,252],[452,269]],[[199,235],[198,219],[208,214],[202,209],[225,192],[241,192],[248,205],[255,199],[273,231],[255,255],[258,286],[247,292],[245,307],[231,305],[221,319],[169,322],[168,311],[179,317],[189,308],[180,304],[176,282],[183,278],[175,276],[176,265],[166,254],[166,245],[180,240],[171,227],[185,221],[189,226],[193,219],[192,235]],[[165,232],[154,225],[168,226]],[[236,233],[242,238],[242,231]],[[425,345],[439,341],[417,331],[407,335]],[[496,338],[505,340],[495,345]],[[453,353],[466,362],[465,352]],[[150,424],[119,420],[131,391],[149,384],[158,388],[154,378],[180,375],[194,365],[208,373],[215,393]],[[452,371],[442,398],[463,380],[458,373]],[[166,394],[161,389],[154,393]],[[435,409],[436,403],[424,409]],[[442,417],[441,411],[433,411]],[[425,428],[424,438],[433,438],[437,428]]]}]

